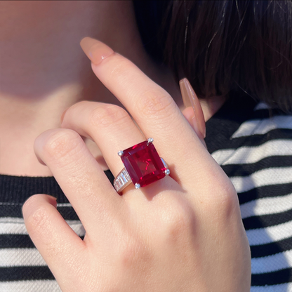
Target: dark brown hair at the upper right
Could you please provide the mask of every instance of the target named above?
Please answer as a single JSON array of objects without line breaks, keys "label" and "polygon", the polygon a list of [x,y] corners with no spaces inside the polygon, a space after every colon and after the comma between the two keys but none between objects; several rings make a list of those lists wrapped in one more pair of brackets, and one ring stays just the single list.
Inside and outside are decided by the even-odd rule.
[{"label": "dark brown hair at the upper right", "polygon": [[177,81],[187,77],[199,98],[244,91],[292,112],[291,0],[159,5],[159,33],[148,43],[157,42],[155,50],[161,51]]}]

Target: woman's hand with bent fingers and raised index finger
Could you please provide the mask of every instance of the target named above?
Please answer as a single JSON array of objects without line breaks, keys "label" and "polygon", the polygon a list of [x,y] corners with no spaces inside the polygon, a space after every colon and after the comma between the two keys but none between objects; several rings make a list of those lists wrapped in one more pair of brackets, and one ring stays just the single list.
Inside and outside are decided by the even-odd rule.
[{"label": "woman's hand with bent fingers and raised index finger", "polygon": [[[36,194],[25,224],[63,292],[249,291],[251,258],[237,193],[170,95],[100,41],[81,42],[98,79],[126,107],[78,102],[62,128],[35,141],[86,230],[84,240]],[[171,174],[119,196],[80,137],[91,138],[116,176],[117,155],[154,138]]]}]

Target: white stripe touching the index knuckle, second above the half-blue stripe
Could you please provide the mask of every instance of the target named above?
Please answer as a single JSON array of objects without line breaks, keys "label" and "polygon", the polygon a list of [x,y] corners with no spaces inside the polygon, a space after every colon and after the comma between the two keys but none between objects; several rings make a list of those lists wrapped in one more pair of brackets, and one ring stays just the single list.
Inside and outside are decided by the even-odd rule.
[{"label": "white stripe touching the index knuckle, second above the half-blue stripe", "polygon": [[292,167],[266,168],[248,176],[234,176],[230,180],[238,193],[265,185],[292,183]]}]

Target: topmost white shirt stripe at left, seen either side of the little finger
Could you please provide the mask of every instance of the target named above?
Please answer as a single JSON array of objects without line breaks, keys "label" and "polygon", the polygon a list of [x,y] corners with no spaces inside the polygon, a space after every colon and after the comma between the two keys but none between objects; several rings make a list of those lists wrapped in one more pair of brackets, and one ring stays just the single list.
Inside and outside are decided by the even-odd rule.
[{"label": "topmost white shirt stripe at left, seen either side of the little finger", "polygon": [[[66,220],[68,225],[79,237],[85,235],[83,225],[79,220]],[[22,218],[0,218],[0,234],[27,234]]]}]

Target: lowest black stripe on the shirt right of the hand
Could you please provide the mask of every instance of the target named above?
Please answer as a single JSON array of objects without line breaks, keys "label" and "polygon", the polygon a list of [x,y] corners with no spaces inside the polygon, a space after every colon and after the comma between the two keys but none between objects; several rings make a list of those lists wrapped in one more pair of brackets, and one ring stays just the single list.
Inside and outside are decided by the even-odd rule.
[{"label": "lowest black stripe on the shirt right of the hand", "polygon": [[287,268],[277,272],[252,274],[251,286],[277,285],[292,282],[292,269]]}]

